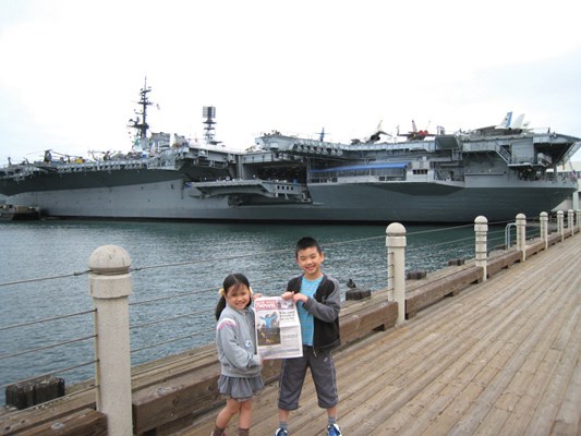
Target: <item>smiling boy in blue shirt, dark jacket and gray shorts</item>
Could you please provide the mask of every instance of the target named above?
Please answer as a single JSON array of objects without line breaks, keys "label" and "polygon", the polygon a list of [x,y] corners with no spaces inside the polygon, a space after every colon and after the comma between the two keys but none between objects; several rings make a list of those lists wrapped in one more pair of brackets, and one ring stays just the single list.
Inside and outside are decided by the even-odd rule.
[{"label": "smiling boy in blue shirt, dark jacket and gray shorts", "polygon": [[283,300],[292,299],[296,303],[303,356],[282,361],[278,392],[279,428],[275,436],[289,435],[289,414],[291,410],[299,408],[299,397],[307,367],[311,368],[318,405],[327,410],[327,436],[341,436],[337,425],[339,398],[335,363],[330,354],[330,351],[340,344],[339,282],[320,270],[325,254],[313,238],[299,240],[295,256],[303,274],[289,281],[287,291],[281,296]]}]

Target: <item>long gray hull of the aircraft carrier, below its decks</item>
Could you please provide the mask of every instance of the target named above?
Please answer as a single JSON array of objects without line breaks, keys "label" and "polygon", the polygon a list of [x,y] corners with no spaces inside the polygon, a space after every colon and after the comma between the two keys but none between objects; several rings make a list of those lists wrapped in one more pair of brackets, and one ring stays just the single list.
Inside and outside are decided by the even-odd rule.
[{"label": "long gray hull of the aircraft carrier, below its decks", "polygon": [[229,196],[201,197],[181,180],[156,183],[24,192],[14,204],[37,205],[52,217],[310,222],[472,222],[537,217],[574,190],[547,182],[463,187],[458,183],[314,184],[308,204],[232,205]]}]

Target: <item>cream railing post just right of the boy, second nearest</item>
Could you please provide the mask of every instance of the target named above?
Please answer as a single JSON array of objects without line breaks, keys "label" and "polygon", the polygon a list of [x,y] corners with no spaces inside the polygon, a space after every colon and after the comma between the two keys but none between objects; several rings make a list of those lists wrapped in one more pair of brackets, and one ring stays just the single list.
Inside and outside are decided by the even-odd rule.
[{"label": "cream railing post just right of the boy, second nearest", "polygon": [[406,228],[392,222],[386,233],[388,295],[391,292],[398,303],[397,324],[401,324],[406,320]]}]

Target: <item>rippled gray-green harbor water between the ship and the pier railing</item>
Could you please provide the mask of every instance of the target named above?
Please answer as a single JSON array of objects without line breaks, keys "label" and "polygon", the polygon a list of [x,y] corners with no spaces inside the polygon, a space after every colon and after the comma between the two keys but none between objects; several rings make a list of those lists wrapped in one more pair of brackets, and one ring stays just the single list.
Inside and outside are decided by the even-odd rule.
[{"label": "rippled gray-green harbor water between the ship and the pier railing", "polygon": [[[0,386],[55,373],[66,385],[93,378],[93,302],[87,262],[114,244],[132,258],[132,364],[214,340],[214,307],[226,275],[280,294],[300,272],[294,243],[316,238],[324,270],[347,291],[353,280],[387,286],[386,226],[290,226],[141,221],[0,222]],[[473,226],[407,227],[408,269],[434,270],[473,257]],[[43,320],[41,323],[38,323]]]}]

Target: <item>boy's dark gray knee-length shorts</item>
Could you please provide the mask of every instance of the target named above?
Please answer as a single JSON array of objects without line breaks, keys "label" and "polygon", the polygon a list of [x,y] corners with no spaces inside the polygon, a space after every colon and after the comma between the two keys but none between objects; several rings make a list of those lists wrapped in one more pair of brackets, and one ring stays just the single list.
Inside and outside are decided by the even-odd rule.
[{"label": "boy's dark gray knee-length shorts", "polygon": [[337,405],[337,379],[335,362],[330,351],[313,352],[313,347],[303,346],[303,356],[285,359],[280,368],[278,384],[278,407],[282,410],[299,409],[299,397],[303,388],[306,368],[311,368],[311,375],[317,391],[318,405],[329,409]]}]

